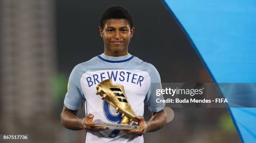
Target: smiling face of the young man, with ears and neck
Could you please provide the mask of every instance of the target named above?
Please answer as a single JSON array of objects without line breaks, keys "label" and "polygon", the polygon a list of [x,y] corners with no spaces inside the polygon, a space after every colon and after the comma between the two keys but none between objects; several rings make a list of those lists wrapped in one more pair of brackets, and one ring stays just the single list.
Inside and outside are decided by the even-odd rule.
[{"label": "smiling face of the young man, with ears and neck", "polygon": [[104,40],[105,54],[110,56],[123,56],[128,53],[128,44],[133,36],[134,27],[131,28],[124,19],[109,19],[104,28],[100,28],[100,35]]}]

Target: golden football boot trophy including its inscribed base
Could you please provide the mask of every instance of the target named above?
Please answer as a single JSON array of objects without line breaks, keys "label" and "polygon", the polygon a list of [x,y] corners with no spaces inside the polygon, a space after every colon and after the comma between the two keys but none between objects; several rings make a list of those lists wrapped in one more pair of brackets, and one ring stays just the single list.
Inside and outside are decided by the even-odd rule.
[{"label": "golden football boot trophy including its inscribed base", "polygon": [[139,129],[140,126],[129,125],[131,121],[138,122],[138,119],[135,118],[136,113],[134,113],[131,105],[128,102],[128,99],[125,95],[125,90],[122,85],[113,85],[111,79],[106,79],[101,81],[96,86],[97,95],[101,96],[102,100],[107,101],[111,106],[116,110],[116,113],[122,113],[122,120],[120,124],[116,123],[97,123],[95,126],[105,126],[110,129]]}]

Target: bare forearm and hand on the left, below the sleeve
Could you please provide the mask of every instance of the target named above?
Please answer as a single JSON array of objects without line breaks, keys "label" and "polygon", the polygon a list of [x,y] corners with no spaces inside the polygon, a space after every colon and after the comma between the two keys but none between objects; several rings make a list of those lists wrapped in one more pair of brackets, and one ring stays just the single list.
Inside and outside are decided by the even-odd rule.
[{"label": "bare forearm and hand on the left, below the sleeve", "polygon": [[103,131],[106,127],[94,126],[97,123],[93,120],[94,115],[88,114],[84,118],[77,117],[78,110],[70,110],[66,106],[63,107],[61,112],[61,124],[70,130],[86,130],[86,131]]}]

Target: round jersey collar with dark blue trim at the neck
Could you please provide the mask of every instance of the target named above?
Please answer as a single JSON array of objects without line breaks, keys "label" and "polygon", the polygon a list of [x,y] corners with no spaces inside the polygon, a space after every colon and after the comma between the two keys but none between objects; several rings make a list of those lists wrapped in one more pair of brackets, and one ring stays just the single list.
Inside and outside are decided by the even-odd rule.
[{"label": "round jersey collar with dark blue trim at the neck", "polygon": [[98,55],[97,57],[99,57],[101,60],[103,60],[105,62],[120,63],[120,62],[127,62],[130,59],[132,59],[134,56],[128,53],[127,55],[121,56],[121,57],[110,57],[110,56],[107,56],[104,53],[102,53],[101,55]]}]

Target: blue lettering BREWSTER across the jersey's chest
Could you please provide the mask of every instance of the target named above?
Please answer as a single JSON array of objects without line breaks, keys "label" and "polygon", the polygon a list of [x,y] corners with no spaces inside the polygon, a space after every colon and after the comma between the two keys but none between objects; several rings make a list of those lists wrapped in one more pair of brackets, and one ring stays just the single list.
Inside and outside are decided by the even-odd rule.
[{"label": "blue lettering BREWSTER across the jersey's chest", "polygon": [[100,74],[93,74],[92,76],[86,77],[89,87],[92,86],[93,84],[98,84],[105,79],[112,79],[114,81],[116,80],[126,81],[126,82],[131,82],[133,84],[137,84],[141,86],[141,82],[143,81],[144,77],[131,72],[123,72],[123,71],[115,71],[115,72],[108,71],[108,72],[102,72]]}]

